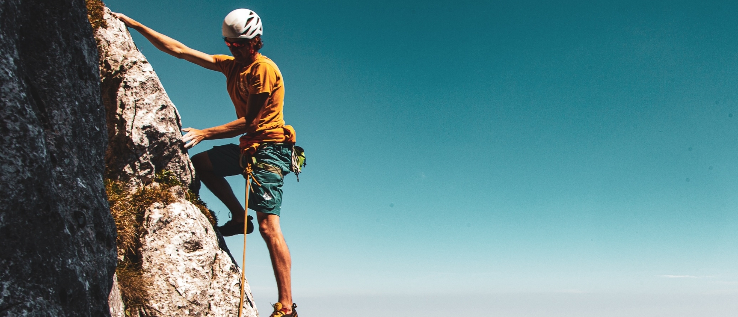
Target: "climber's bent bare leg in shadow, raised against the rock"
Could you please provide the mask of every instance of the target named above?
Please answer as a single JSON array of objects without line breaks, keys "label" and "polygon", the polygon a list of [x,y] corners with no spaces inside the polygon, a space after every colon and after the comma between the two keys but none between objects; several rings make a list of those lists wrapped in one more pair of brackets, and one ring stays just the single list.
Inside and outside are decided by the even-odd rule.
[{"label": "climber's bent bare leg in shadow, raised against the rock", "polygon": [[226,178],[213,173],[213,163],[210,162],[210,156],[207,156],[207,152],[193,156],[192,164],[195,166],[195,171],[200,176],[202,184],[205,184],[205,187],[210,189],[210,192],[213,192],[213,195],[226,205],[233,215],[233,220],[237,223],[243,223],[244,206],[241,206],[238,198],[233,195],[233,189],[231,189]]}]

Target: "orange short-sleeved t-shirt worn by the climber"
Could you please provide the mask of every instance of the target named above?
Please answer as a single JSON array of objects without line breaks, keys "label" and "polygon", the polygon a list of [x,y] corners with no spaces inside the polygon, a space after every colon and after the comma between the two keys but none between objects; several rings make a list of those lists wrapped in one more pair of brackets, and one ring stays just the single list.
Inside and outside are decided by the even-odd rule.
[{"label": "orange short-sleeved t-shirt worn by the climber", "polygon": [[249,94],[269,93],[269,100],[256,115],[255,126],[241,136],[241,150],[253,154],[262,142],[294,143],[294,128],[284,124],[284,81],[277,64],[260,53],[250,65],[236,63],[228,55],[213,58],[218,70],[226,75],[226,87],[238,118],[249,111]]}]

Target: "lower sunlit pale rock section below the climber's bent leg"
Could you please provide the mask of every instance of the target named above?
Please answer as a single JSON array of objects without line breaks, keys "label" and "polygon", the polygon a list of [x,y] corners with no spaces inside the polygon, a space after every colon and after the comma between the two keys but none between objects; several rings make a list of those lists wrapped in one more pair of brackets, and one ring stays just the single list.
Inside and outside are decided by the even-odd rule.
[{"label": "lower sunlit pale rock section below the climber's bent leg", "polygon": [[[238,316],[241,271],[218,248],[213,226],[192,203],[154,204],[146,211],[141,254],[156,291],[159,316]],[[258,316],[246,285],[244,316]]]}]

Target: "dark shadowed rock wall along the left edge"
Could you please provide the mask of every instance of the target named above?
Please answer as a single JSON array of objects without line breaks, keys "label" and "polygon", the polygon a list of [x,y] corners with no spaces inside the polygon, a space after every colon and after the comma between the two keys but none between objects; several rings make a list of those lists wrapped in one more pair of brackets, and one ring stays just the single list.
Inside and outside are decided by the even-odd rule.
[{"label": "dark shadowed rock wall along the left edge", "polygon": [[108,316],[96,66],[84,1],[0,1],[0,316]]}]

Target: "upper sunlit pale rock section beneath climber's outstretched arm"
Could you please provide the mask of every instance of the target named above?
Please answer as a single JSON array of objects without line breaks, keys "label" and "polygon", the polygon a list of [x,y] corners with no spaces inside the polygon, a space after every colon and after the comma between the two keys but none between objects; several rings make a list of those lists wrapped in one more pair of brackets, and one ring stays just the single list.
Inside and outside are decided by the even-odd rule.
[{"label": "upper sunlit pale rock section beneath climber's outstretched arm", "polygon": [[179,112],[123,22],[109,13],[108,27],[95,31],[110,139],[107,177],[145,184],[168,170],[185,186],[199,184],[180,141]]}]

